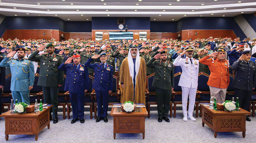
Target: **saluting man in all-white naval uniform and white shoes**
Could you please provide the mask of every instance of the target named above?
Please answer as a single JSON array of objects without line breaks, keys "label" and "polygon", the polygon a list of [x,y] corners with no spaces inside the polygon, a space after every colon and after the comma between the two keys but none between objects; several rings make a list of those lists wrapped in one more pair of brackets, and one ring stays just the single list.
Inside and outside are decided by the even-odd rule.
[{"label": "saluting man in all-white naval uniform and white shoes", "polygon": [[[182,89],[182,110],[183,121],[196,121],[193,117],[193,110],[196,101],[196,91],[198,84],[199,61],[192,57],[195,47],[186,46],[184,52],[181,53],[174,61],[174,66],[181,66],[182,74],[178,86]],[[181,57],[186,53],[186,57]],[[189,105],[187,112],[187,101],[189,95]]]}]

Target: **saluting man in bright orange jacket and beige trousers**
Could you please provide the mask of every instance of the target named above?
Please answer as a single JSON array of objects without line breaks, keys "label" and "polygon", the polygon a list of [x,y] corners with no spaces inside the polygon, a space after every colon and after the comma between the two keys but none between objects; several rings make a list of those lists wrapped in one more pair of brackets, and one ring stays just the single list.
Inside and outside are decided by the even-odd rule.
[{"label": "saluting man in bright orange jacket and beige trousers", "polygon": [[207,82],[207,85],[210,88],[211,98],[216,97],[217,103],[224,102],[227,87],[229,86],[229,61],[227,60],[227,52],[223,49],[219,49],[216,52],[203,57],[199,62],[206,64],[211,71]]}]

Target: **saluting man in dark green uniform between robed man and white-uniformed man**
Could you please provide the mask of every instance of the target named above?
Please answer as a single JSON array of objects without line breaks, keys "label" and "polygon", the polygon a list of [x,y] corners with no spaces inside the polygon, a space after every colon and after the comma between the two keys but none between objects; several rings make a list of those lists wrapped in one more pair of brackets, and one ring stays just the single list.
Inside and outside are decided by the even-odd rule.
[{"label": "saluting man in dark green uniform between robed man and white-uniformed man", "polygon": [[158,122],[162,122],[163,119],[170,122],[167,116],[174,87],[174,70],[173,63],[167,60],[167,51],[163,50],[155,55],[148,61],[147,67],[155,69],[152,87],[155,87],[157,94]]}]

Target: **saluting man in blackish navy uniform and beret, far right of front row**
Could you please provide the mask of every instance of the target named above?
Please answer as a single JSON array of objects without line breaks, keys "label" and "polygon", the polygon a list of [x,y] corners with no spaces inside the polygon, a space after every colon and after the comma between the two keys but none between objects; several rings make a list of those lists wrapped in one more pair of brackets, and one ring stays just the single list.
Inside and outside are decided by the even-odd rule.
[{"label": "saluting man in blackish navy uniform and beret, far right of front row", "polygon": [[[231,66],[232,70],[236,70],[236,77],[232,83],[234,87],[234,95],[238,97],[239,106],[248,111],[250,106],[250,98],[256,84],[255,62],[250,61],[251,51],[245,50],[239,59]],[[246,121],[251,119],[246,116]]]}]

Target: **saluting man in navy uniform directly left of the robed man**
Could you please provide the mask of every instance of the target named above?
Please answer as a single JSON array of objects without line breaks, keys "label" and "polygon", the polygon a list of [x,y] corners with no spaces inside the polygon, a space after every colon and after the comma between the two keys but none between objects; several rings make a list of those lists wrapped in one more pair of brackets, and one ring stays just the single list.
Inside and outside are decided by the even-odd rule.
[{"label": "saluting man in navy uniform directly left of the robed man", "polygon": [[[101,63],[90,64],[93,59],[99,58]],[[86,67],[94,70],[94,81],[92,88],[95,89],[96,99],[97,99],[97,112],[98,118],[96,122],[101,121],[108,122],[108,95],[112,92],[113,88],[113,67],[112,65],[106,63],[107,60],[106,53],[101,53],[101,55],[93,55],[85,63]],[[102,108],[103,104],[103,108]]]}]

